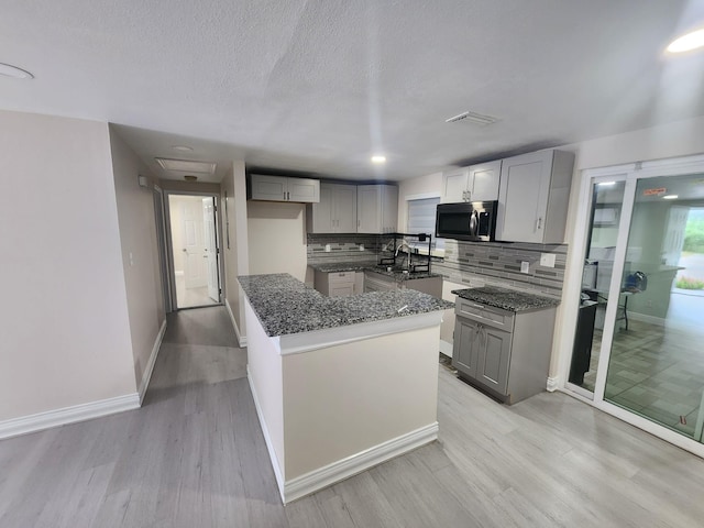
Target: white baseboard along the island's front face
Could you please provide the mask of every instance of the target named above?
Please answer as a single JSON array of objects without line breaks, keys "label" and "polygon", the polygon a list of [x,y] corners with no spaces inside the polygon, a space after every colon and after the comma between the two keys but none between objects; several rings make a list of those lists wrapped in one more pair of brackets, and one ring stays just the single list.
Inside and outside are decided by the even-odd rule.
[{"label": "white baseboard along the island's front face", "polygon": [[[437,440],[438,422],[410,431],[400,437],[396,437],[360,453],[339,460],[332,464],[311,471],[301,476],[297,476],[284,484],[282,498],[284,504],[297,498],[310,495],[336,482],[343,481],[363,471],[378,465],[387,460],[407,453],[410,450],[425,446]],[[279,486],[280,487],[280,486]]]}]

